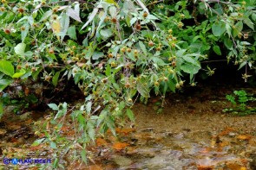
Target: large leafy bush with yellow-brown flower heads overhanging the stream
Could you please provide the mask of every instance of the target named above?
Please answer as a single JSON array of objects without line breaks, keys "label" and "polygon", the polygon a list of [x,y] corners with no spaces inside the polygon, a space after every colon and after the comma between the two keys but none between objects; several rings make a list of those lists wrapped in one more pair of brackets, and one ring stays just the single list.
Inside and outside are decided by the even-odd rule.
[{"label": "large leafy bush with yellow-brown flower heads overhanging the stream", "polygon": [[[138,98],[147,102],[152,93],[164,98],[194,86],[200,70],[213,75],[211,55],[226,56],[248,79],[249,68],[255,69],[255,21],[253,0],[2,0],[0,91],[28,80],[56,88],[74,80],[84,103],[49,104],[57,114],[44,126],[56,129],[46,130],[40,142],[59,150],[77,144],[85,161],[95,135],[107,129],[115,134],[115,123],[126,116],[134,121],[131,107]],[[75,138],[58,131],[68,116]]]}]

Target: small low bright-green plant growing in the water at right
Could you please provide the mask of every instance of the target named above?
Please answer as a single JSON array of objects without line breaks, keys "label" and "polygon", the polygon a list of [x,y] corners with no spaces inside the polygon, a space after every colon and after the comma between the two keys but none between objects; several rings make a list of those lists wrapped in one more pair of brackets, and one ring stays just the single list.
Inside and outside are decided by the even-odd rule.
[{"label": "small low bright-green plant growing in the water at right", "polygon": [[233,95],[226,95],[226,99],[233,104],[233,108],[225,109],[224,112],[229,111],[235,115],[246,116],[249,114],[255,114],[256,108],[248,106],[249,101],[254,101],[256,98],[249,97],[244,90],[233,91]]}]

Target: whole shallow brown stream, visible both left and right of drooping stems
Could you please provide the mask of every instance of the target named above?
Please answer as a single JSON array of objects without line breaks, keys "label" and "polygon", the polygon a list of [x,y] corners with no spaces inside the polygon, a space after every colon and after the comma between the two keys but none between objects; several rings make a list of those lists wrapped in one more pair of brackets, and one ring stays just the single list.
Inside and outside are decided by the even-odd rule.
[{"label": "whole shallow brown stream, visible both left and right of drooping stems", "polygon": [[[153,98],[148,104],[136,104],[135,124],[127,123],[122,129],[116,129],[117,137],[108,133],[102,141],[98,138],[96,146],[89,149],[89,167],[68,161],[66,167],[92,170],[254,170],[256,115],[233,116],[222,112],[230,107],[225,95],[233,90],[238,89],[222,86],[200,88],[171,94],[163,102],[161,98]],[[256,94],[253,88],[246,91]],[[165,107],[157,113],[161,103]],[[9,154],[12,157],[49,155],[48,148],[40,148],[42,150],[37,154],[28,150],[36,139],[33,122],[38,118],[38,113],[33,111],[18,118],[5,116],[0,123],[1,154],[8,151],[14,153]]]}]

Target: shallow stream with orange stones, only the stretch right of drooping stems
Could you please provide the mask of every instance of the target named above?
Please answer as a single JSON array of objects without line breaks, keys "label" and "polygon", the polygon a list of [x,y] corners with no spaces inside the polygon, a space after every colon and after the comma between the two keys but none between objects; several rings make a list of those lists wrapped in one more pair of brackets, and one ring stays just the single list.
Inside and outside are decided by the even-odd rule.
[{"label": "shallow stream with orange stones, only the stretch right of drooping stems", "polygon": [[120,134],[119,140],[130,145],[98,156],[96,166],[120,170],[256,169],[256,116],[223,113],[230,106],[225,99],[229,91],[207,88],[174,94],[166,99],[160,114],[156,113],[156,104],[161,102],[157,98],[147,105],[136,104],[135,132]]}]

